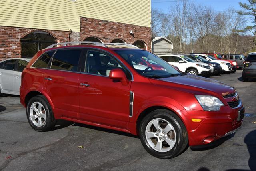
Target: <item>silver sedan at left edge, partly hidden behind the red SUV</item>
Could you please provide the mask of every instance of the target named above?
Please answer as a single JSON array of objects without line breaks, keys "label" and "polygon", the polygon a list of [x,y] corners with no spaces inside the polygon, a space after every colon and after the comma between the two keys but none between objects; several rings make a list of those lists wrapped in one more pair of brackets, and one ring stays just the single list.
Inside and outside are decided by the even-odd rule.
[{"label": "silver sedan at left edge, partly hidden behind the red SUV", "polygon": [[0,95],[20,95],[21,73],[31,58],[9,58],[0,62]]}]

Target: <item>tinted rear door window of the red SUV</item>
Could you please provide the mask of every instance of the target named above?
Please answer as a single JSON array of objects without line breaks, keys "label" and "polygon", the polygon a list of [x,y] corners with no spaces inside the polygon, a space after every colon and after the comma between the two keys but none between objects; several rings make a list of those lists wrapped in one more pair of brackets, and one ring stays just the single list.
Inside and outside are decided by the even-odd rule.
[{"label": "tinted rear door window of the red SUV", "polygon": [[52,58],[52,69],[77,71],[81,49],[57,50]]}]

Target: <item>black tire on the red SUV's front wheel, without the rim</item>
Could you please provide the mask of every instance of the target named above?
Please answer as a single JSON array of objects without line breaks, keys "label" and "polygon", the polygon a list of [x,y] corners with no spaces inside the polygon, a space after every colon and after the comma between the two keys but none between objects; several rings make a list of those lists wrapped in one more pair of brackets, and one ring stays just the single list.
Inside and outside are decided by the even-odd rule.
[{"label": "black tire on the red SUV's front wheel, without the rim", "polygon": [[[148,123],[150,123],[153,119],[156,118],[168,121],[173,126],[176,132],[176,141],[174,143],[174,146],[167,152],[158,152],[154,150],[152,147],[150,147],[150,144],[146,140],[146,127]],[[146,151],[148,151],[148,153],[150,153],[154,157],[158,157],[161,159],[170,159],[176,157],[177,155],[182,153],[188,145],[188,133],[184,123],[175,113],[168,111],[166,109],[158,109],[152,111],[146,117],[144,117],[144,119],[140,123],[139,135],[140,141],[143,147],[146,149]]]}]

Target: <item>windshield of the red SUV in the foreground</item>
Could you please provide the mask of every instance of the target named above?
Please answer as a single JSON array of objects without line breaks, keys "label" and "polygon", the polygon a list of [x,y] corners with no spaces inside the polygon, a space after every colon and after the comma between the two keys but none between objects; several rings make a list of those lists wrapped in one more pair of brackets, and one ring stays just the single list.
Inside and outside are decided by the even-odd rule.
[{"label": "windshield of the red SUV in the foreground", "polygon": [[[130,66],[132,66],[140,75],[150,78],[166,78],[171,76],[183,75],[174,69],[170,64],[159,58],[158,56],[145,50],[115,50]],[[150,61],[159,67],[136,67],[135,61]]]}]

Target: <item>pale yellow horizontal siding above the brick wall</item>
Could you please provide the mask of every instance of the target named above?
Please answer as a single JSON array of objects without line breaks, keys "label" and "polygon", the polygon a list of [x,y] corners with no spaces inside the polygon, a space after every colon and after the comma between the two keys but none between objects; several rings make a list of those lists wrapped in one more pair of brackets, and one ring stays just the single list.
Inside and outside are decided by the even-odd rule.
[{"label": "pale yellow horizontal siding above the brick wall", "polygon": [[150,0],[0,0],[0,25],[80,32],[80,16],[150,27]]}]

